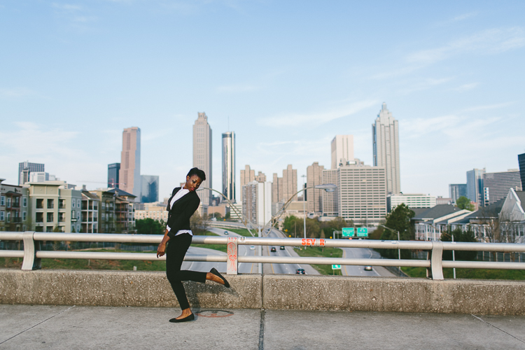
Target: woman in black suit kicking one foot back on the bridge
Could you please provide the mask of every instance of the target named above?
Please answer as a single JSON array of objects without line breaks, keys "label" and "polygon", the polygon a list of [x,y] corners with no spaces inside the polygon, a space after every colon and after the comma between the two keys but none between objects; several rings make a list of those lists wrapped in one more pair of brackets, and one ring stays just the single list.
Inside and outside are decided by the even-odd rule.
[{"label": "woman in black suit kicking one foot back on the bridge", "polygon": [[184,186],[175,188],[172,197],[168,200],[168,223],[164,237],[157,248],[157,257],[166,253],[166,275],[182,309],[181,316],[172,318],[169,322],[179,323],[195,319],[182,281],[204,283],[209,279],[230,288],[230,283],[218,273],[215,267],[210,272],[181,270],[184,255],[193,237],[190,218],[200,204],[200,198],[195,191],[204,180],[206,180],[206,174],[201,169],[191,169],[186,176]]}]

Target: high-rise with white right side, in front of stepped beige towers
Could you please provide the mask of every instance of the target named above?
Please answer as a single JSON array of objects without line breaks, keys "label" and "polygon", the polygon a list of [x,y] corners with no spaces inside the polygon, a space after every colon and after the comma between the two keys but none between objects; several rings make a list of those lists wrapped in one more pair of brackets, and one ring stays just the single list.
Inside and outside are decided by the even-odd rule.
[{"label": "high-rise with white right side, in front of stepped beige towers", "polygon": [[242,214],[255,225],[272,218],[272,183],[252,181],[242,186]]}]

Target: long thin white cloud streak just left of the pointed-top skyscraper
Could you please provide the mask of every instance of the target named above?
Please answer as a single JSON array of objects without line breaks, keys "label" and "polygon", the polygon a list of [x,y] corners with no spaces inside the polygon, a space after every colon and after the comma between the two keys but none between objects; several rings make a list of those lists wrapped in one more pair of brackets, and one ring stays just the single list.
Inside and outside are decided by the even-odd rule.
[{"label": "long thin white cloud streak just left of the pointed-top skyscraper", "polygon": [[267,127],[293,127],[305,124],[315,126],[328,123],[338,118],[351,116],[377,104],[379,104],[377,100],[365,100],[332,111],[319,113],[283,113],[279,116],[262,118],[257,120],[257,123],[258,125]]}]

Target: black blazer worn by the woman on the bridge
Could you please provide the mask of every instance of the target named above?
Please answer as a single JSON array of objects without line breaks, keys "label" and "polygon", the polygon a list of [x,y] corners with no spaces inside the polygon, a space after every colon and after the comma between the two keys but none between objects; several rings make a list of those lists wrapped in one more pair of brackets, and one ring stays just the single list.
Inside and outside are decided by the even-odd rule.
[{"label": "black blazer worn by the woman on the bridge", "polygon": [[190,227],[190,218],[197,211],[200,204],[200,198],[195,191],[190,191],[183,197],[176,200],[171,207],[172,199],[181,188],[176,187],[173,190],[172,197],[169,197],[168,206],[166,208],[169,211],[168,214],[168,226],[169,232],[168,236],[170,238],[175,237],[176,233],[179,230],[191,230]]}]

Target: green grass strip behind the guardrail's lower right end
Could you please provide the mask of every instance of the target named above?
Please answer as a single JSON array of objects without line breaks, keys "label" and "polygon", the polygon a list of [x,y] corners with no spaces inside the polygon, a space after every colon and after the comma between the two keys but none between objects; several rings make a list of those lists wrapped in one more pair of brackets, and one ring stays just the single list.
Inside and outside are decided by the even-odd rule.
[{"label": "green grass strip behind the guardrail's lower right end", "polygon": [[[410,277],[426,277],[425,267],[401,267]],[[443,269],[445,279],[453,279],[453,269]],[[456,279],[513,279],[525,280],[522,269],[456,269]]]}]

